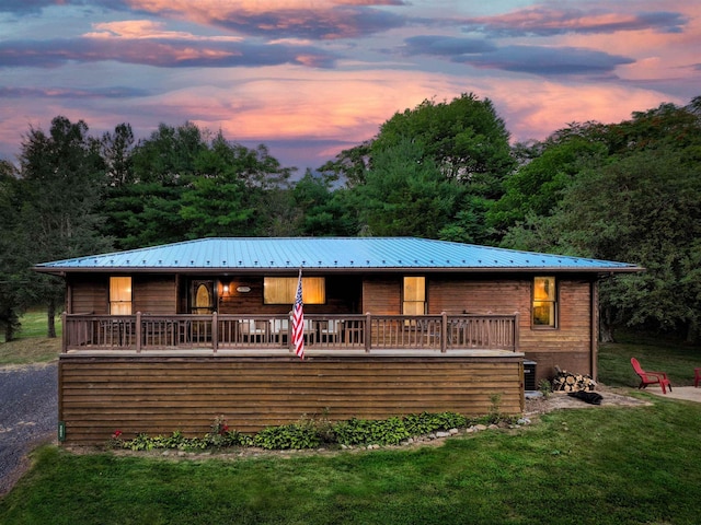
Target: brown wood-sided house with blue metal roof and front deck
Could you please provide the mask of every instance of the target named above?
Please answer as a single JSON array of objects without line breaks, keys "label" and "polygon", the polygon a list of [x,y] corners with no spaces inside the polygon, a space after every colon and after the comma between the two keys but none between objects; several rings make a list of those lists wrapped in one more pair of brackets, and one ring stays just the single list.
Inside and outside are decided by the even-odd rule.
[{"label": "brown wood-sided house with blue metal roof and front deck", "polygon": [[[642,268],[319,237],[203,238],[35,270],[67,287],[61,439],[100,444],[116,429],[202,435],[220,415],[255,432],[322,412],[519,413],[555,365],[596,376],[597,282]],[[303,360],[290,337],[300,270]]]}]

